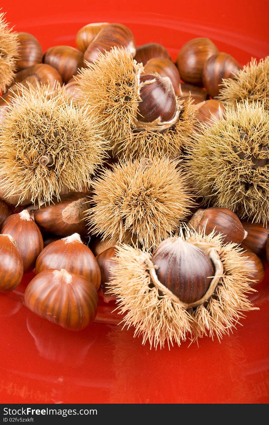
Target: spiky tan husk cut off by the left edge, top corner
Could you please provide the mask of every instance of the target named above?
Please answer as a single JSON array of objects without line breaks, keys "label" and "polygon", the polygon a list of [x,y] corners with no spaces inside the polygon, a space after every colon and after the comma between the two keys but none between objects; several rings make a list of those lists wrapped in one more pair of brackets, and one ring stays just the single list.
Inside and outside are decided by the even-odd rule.
[{"label": "spiky tan husk cut off by the left edge, top corner", "polygon": [[9,28],[5,13],[0,13],[0,92],[12,84],[19,59],[19,42],[17,33]]}]

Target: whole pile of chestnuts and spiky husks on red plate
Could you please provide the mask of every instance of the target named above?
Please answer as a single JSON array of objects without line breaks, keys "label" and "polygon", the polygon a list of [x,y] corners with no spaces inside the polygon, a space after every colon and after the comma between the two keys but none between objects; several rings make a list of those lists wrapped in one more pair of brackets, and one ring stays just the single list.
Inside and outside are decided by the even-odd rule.
[{"label": "whole pile of chestnuts and spiky husks on red plate", "polygon": [[[205,128],[212,129],[217,144],[215,129],[231,105],[257,101],[266,108],[269,89],[261,82],[245,94],[242,81],[245,74],[249,87],[257,75],[268,80],[267,58],[242,68],[212,40],[195,38],[173,62],[160,44],[137,47],[132,32],[120,23],[90,23],[77,32],[77,48],[57,45],[43,52],[32,34],[12,32],[3,15],[0,20],[0,43],[8,44],[10,37],[13,49],[6,55],[12,66],[0,58],[0,143],[8,144],[12,136],[15,154],[3,160],[17,165],[17,171],[7,167],[5,174],[0,169],[0,292],[16,290],[23,273],[34,271],[25,306],[72,331],[94,321],[103,298],[116,303],[123,321],[150,346],[229,334],[242,312],[254,309],[247,295],[264,279],[269,210],[261,204],[262,212],[255,214],[261,219],[253,222],[235,202],[229,208],[225,199],[212,204],[215,188],[212,184],[207,198],[199,193],[190,156]],[[235,84],[238,98],[230,96]],[[42,102],[38,109],[29,105],[21,131],[14,127],[11,134],[10,127],[8,133],[9,116],[20,113],[20,99],[26,102],[27,94],[41,92],[46,109]],[[72,167],[77,147],[63,155],[65,143],[72,146],[72,120],[63,124],[66,138],[59,149],[55,144],[59,130],[48,108],[60,108],[61,102],[71,115],[83,114],[78,139],[84,134],[94,139],[85,132],[87,126],[98,130],[93,144],[81,147],[96,147],[96,166],[88,170],[83,164],[83,180],[79,166],[77,172]],[[247,113],[251,108],[246,106]],[[37,115],[44,136],[41,127],[34,127]],[[249,174],[262,168],[268,185],[269,144],[263,137],[254,146],[245,122],[244,128],[228,127],[242,142],[241,150],[229,147],[231,155],[246,167],[251,159]],[[31,137],[36,135],[31,149],[29,129]],[[35,146],[42,147],[38,161]],[[88,156],[82,152],[77,164],[83,158]],[[230,162],[224,158],[223,167]],[[75,184],[61,184],[60,167]],[[19,184],[26,174],[32,184],[22,197]],[[235,179],[231,175],[231,187]],[[257,198],[250,177],[240,184],[243,197]],[[40,193],[48,195],[42,200]]]}]

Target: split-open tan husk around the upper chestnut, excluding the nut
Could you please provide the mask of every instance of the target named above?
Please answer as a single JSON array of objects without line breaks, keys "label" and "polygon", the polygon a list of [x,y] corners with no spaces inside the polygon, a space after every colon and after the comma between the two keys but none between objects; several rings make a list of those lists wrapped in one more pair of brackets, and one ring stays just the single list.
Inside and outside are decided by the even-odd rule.
[{"label": "split-open tan husk around the upper chestnut, excluding the nut", "polygon": [[[123,49],[100,55],[95,64],[82,69],[77,78],[81,104],[89,104],[109,139],[113,154],[136,159],[168,154],[177,157],[192,133],[195,108],[190,99],[177,100],[175,117],[169,122],[139,120],[142,64]],[[142,83],[143,84],[143,83]]]}]

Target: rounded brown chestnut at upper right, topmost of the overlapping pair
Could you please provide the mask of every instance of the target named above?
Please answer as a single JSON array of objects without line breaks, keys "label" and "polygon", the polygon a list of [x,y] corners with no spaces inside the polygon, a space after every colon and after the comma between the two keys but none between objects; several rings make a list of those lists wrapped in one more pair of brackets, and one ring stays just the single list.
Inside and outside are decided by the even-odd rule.
[{"label": "rounded brown chestnut at upper right, topmost of the overlapping pair", "polygon": [[194,38],[180,49],[177,55],[177,68],[181,79],[195,85],[203,85],[203,65],[218,48],[209,38]]}]

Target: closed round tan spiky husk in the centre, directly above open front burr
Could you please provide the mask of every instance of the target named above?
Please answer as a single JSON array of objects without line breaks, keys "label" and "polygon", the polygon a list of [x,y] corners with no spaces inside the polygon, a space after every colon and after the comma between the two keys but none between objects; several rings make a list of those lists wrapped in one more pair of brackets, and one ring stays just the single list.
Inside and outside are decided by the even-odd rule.
[{"label": "closed round tan spiky husk in the centre, directly above open front burr", "polygon": [[141,164],[120,161],[105,170],[92,183],[93,207],[85,215],[103,239],[151,249],[177,229],[194,203],[179,161],[155,158],[145,169]]}]

